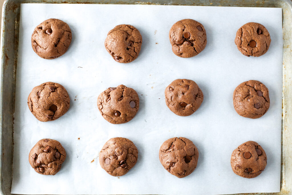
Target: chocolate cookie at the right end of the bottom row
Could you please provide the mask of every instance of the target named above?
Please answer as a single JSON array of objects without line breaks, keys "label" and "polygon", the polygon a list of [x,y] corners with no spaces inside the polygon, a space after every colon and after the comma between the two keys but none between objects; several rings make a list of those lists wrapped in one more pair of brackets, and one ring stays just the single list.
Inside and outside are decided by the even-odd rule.
[{"label": "chocolate cookie at the right end of the bottom row", "polygon": [[232,152],[230,163],[236,175],[254,178],[265,169],[267,155],[258,143],[247,141]]}]

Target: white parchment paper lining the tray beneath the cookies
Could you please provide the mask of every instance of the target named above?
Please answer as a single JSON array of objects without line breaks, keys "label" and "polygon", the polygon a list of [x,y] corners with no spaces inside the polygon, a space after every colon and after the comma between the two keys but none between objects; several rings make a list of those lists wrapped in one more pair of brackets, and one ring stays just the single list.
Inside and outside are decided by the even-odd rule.
[{"label": "white parchment paper lining the tray beneath the cookies", "polygon": [[[30,42],[34,28],[48,18],[61,19],[72,30],[68,51],[54,60],[37,56]],[[175,56],[168,39],[173,23],[184,18],[199,21],[207,33],[206,48],[193,58]],[[234,44],[238,28],[251,21],[263,24],[272,39],[268,52],[258,58],[242,55]],[[142,34],[140,55],[132,63],[115,62],[104,48],[107,32],[119,24],[134,25]],[[11,193],[280,191],[281,8],[21,4],[19,37]],[[188,117],[173,114],[165,104],[164,89],[178,78],[194,80],[204,93],[201,107]],[[255,120],[239,116],[232,102],[235,87],[251,79],[263,82],[270,92],[269,111]],[[28,109],[27,96],[47,81],[67,89],[70,109],[58,120],[39,122]],[[112,125],[100,115],[96,100],[107,87],[119,84],[137,91],[140,108],[130,122]],[[121,177],[108,175],[98,162],[100,149],[112,137],[131,139],[139,151],[137,164]],[[197,168],[182,179],[159,162],[159,147],[171,137],[187,137],[199,150]],[[54,176],[37,174],[28,162],[30,149],[43,138],[60,141],[67,152]],[[232,151],[248,140],[267,153],[265,171],[253,179],[235,175],[230,166]]]}]

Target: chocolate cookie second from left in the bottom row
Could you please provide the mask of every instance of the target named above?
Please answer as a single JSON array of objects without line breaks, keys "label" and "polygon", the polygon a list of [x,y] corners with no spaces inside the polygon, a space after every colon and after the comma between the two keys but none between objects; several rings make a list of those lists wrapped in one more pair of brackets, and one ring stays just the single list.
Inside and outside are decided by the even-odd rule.
[{"label": "chocolate cookie second from left in the bottom row", "polygon": [[133,142],[123,137],[109,139],[99,153],[99,163],[109,175],[125,175],[136,164],[138,150]]}]

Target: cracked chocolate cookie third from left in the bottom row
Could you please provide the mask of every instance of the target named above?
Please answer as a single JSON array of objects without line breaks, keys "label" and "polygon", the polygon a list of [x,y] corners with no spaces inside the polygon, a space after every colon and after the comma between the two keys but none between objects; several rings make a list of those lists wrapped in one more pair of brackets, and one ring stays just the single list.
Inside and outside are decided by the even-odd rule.
[{"label": "cracked chocolate cookie third from left in the bottom row", "polygon": [[163,167],[178,178],[190,175],[197,167],[198,158],[197,147],[185,137],[168,139],[159,150],[159,160]]}]

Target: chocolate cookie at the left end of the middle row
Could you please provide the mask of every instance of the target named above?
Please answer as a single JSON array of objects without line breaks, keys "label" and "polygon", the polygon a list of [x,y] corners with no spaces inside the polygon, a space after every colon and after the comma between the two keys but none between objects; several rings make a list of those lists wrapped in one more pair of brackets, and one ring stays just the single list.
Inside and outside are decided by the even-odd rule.
[{"label": "chocolate cookie at the left end of the middle row", "polygon": [[45,82],[32,89],[27,105],[39,121],[46,122],[65,114],[70,106],[70,98],[62,85]]}]

